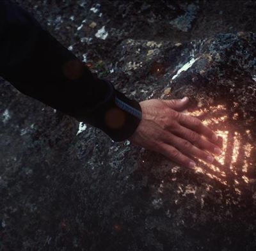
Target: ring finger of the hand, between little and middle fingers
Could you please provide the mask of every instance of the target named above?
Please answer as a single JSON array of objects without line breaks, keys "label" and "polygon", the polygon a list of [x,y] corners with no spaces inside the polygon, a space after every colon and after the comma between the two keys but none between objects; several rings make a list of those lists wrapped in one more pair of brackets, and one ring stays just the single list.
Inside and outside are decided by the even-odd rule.
[{"label": "ring finger of the hand, between little and middle fingers", "polygon": [[206,153],[200,148],[197,148],[191,142],[186,141],[186,139],[182,139],[177,137],[172,133],[164,133],[163,142],[166,144],[172,144],[175,148],[179,149],[186,156],[193,156],[199,158],[200,160],[204,160],[211,164],[214,161],[214,158],[209,153]]}]

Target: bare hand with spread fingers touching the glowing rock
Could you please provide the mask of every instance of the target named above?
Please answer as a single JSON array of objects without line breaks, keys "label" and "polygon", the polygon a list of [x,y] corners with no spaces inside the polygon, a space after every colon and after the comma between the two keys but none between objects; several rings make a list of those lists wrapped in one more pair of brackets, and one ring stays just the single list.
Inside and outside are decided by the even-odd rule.
[{"label": "bare hand with spread fingers touching the glowing rock", "polygon": [[183,98],[140,102],[141,122],[129,141],[186,167],[195,167],[193,156],[212,163],[214,158],[211,153],[221,153],[221,149],[214,144],[218,137],[199,119],[181,112],[188,101],[188,98]]}]

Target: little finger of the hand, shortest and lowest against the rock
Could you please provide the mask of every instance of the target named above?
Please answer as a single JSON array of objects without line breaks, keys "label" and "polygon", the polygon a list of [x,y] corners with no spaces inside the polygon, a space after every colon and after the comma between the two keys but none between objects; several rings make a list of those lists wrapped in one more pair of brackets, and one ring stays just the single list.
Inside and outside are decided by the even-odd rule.
[{"label": "little finger of the hand, shortest and lowest against the rock", "polygon": [[173,148],[173,146],[170,146],[168,144],[161,144],[160,153],[180,165],[184,165],[186,167],[195,167],[196,165],[193,160],[183,155],[182,153],[180,153],[180,151],[178,151],[178,149]]}]

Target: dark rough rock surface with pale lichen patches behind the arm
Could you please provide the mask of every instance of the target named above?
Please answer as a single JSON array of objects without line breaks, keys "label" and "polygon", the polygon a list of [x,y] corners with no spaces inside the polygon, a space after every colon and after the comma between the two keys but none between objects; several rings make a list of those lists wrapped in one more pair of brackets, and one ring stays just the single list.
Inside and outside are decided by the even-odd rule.
[{"label": "dark rough rock surface with pale lichen patches behind the arm", "polygon": [[0,250],[255,250],[255,3],[111,3],[20,2],[130,98],[188,95],[223,154],[184,169],[1,80]]}]

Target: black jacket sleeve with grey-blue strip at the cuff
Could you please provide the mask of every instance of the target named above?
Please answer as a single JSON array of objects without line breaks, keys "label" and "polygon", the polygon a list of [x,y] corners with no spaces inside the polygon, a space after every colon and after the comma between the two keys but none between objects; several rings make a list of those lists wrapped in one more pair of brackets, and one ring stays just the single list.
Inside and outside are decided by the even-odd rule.
[{"label": "black jacket sleeve with grey-blue strip at the cuff", "polygon": [[129,139],[141,121],[140,103],[97,78],[26,11],[0,1],[0,75],[36,98],[105,132]]}]

